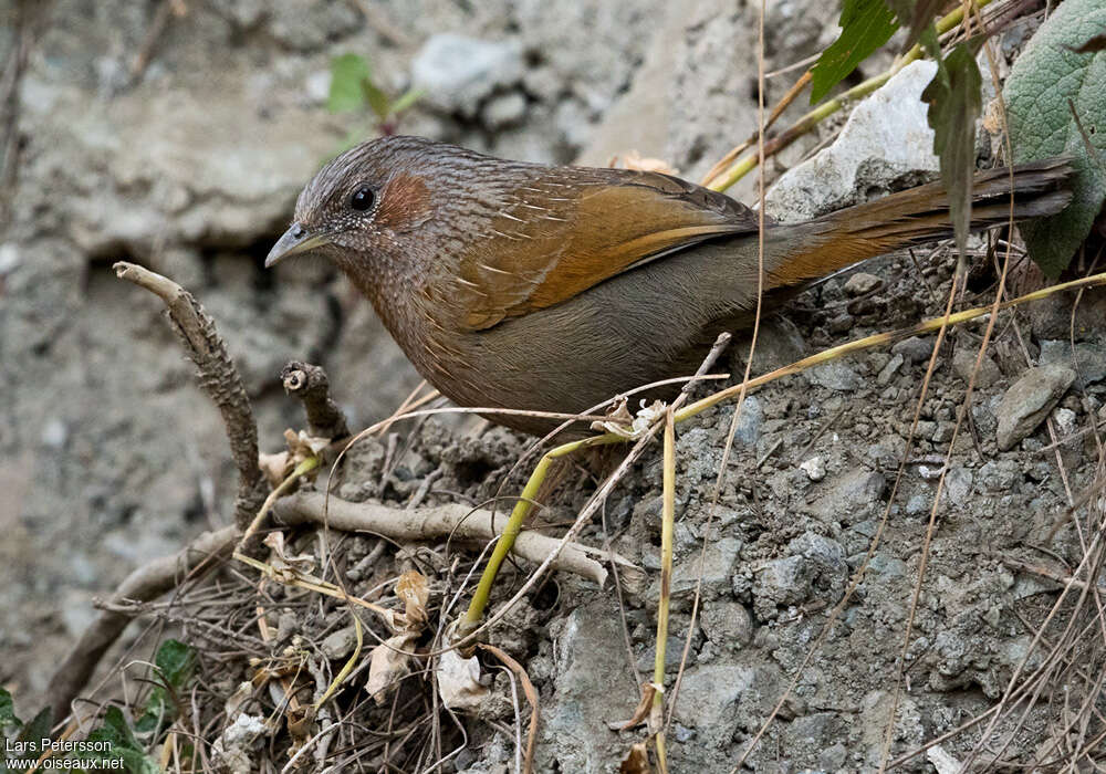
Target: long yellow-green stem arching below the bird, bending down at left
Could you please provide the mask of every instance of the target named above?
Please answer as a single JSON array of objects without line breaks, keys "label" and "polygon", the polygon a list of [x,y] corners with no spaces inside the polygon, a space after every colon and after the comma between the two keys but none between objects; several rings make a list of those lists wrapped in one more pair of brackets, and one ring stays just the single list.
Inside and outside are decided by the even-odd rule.
[{"label": "long yellow-green stem arching below the bird, bending down at left", "polygon": [[[1016,299],[1005,301],[999,304],[998,308],[1000,311],[1006,310],[1030,301],[1040,301],[1041,299],[1045,299],[1054,293],[1102,284],[1106,284],[1106,272],[1085,276],[1079,280],[1072,280],[1071,282],[1064,282],[1050,287],[1042,287],[1039,291],[1026,293],[1025,295],[1018,296]],[[727,389],[719,390],[718,393],[707,396],[701,400],[697,400],[696,402],[676,411],[672,415],[674,422],[682,422],[698,414],[701,414],[702,411],[706,411],[712,406],[717,406],[724,400],[734,398],[741,394],[742,389],[748,393],[755,387],[761,387],[783,376],[799,374],[813,366],[836,360],[837,358],[855,352],[862,352],[877,346],[885,346],[900,338],[932,333],[933,331],[939,330],[942,325],[962,325],[963,323],[968,323],[972,320],[990,314],[991,311],[991,306],[977,306],[974,308],[964,310],[963,312],[957,312],[947,318],[943,316],[933,317],[932,320],[922,321],[911,327],[890,331],[887,333],[877,333],[874,336],[866,336],[865,338],[858,338],[854,342],[846,342],[839,346],[831,347],[830,349],[811,355],[810,357],[804,357],[803,359],[792,363],[789,366],[776,368],[775,370],[758,376],[754,379],[749,379],[745,383],[728,387]],[[473,594],[472,600],[469,603],[468,611],[461,620],[459,627],[460,636],[465,637],[470,635],[480,625],[480,619],[483,617],[484,608],[488,606],[491,587],[495,582],[495,575],[499,573],[499,568],[503,564],[503,559],[507,558],[508,553],[510,553],[513,547],[514,538],[518,537],[519,533],[522,531],[522,525],[525,522],[526,516],[530,514],[530,511],[533,509],[534,499],[538,496],[538,490],[545,481],[545,475],[547,474],[553,460],[559,457],[571,454],[580,449],[605,446],[609,443],[624,443],[627,440],[630,439],[626,436],[608,432],[603,436],[594,436],[592,438],[559,446],[555,449],[551,449],[544,457],[542,457],[541,461],[539,461],[538,466],[534,468],[534,471],[530,474],[530,479],[526,481],[526,485],[522,490],[522,495],[520,496],[519,502],[515,504],[514,510],[511,511],[511,516],[508,520],[507,526],[503,529],[503,534],[500,535],[499,541],[495,543],[495,548],[492,552],[491,559],[488,562],[488,566],[484,567],[484,571],[480,576],[476,594]]]}]

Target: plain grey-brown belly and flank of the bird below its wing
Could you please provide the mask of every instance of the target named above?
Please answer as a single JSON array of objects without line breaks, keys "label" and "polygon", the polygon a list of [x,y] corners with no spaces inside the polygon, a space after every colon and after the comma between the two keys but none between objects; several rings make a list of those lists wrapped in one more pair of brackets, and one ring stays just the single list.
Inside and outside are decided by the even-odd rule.
[{"label": "plain grey-brown belly and flank of the bird below its wing", "polygon": [[[462,357],[449,364],[451,378],[427,374],[428,379],[462,406],[577,414],[637,387],[690,376],[717,334],[748,307],[749,291],[742,283],[719,292],[716,283],[703,292],[699,270],[705,257],[678,258],[619,275],[556,306],[467,333],[457,343]],[[676,385],[648,397],[670,398],[678,390]],[[488,416],[528,432],[545,432],[557,423]]]}]

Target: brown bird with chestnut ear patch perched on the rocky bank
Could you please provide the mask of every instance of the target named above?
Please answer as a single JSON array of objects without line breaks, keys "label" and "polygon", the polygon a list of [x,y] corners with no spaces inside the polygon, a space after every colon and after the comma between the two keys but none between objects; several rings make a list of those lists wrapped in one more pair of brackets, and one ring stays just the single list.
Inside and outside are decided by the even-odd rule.
[{"label": "brown bird with chestnut ear patch perched on the rocky bank", "polygon": [[[971,228],[1060,211],[1071,174],[1064,159],[978,172]],[[544,435],[557,422],[495,409],[578,414],[690,376],[721,332],[749,326],[759,220],[670,175],[507,160],[394,135],[319,170],[265,266],[304,253],[328,260],[442,395]],[[805,222],[765,219],[764,302],[951,234],[940,182]]]}]

